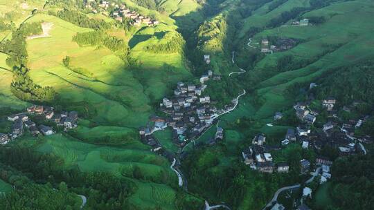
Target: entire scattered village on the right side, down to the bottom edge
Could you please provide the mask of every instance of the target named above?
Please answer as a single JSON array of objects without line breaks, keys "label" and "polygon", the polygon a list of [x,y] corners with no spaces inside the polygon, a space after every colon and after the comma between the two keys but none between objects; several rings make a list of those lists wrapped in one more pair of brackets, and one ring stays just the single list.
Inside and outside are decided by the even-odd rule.
[{"label": "entire scattered village on the right side, down to the bottom edge", "polygon": [[[316,87],[317,84],[310,84],[310,89]],[[313,99],[313,97],[312,97]],[[327,121],[323,124],[323,127],[314,127],[319,115],[319,111],[312,110],[310,108],[310,100],[307,102],[298,102],[294,104],[294,114],[299,120],[300,124],[296,128],[288,128],[285,133],[284,139],[282,139],[278,145],[267,145],[265,134],[260,133],[253,137],[251,146],[242,151],[242,158],[244,164],[248,165],[251,169],[257,170],[261,173],[288,173],[290,166],[287,162],[273,162],[271,151],[277,151],[284,149],[288,144],[300,144],[303,149],[312,149],[317,153],[315,162],[309,160],[300,160],[299,170],[300,175],[312,175],[310,180],[307,180],[305,184],[312,182],[313,178],[319,177],[319,184],[327,182],[331,178],[330,166],[333,162],[327,157],[320,155],[321,150],[325,146],[337,149],[339,152],[339,158],[346,157],[348,155],[363,154],[366,155],[366,149],[362,143],[371,144],[373,140],[370,136],[355,137],[355,130],[362,126],[369,116],[362,116],[357,119],[341,120],[335,109],[337,100],[333,97],[328,97],[321,101],[321,106],[325,111],[328,112]],[[350,112],[351,109],[358,106],[359,102],[353,102],[350,106],[344,106],[341,111]],[[281,120],[283,113],[277,112],[274,115],[274,122]],[[271,125],[272,126],[272,125]],[[312,168],[314,165],[314,169]],[[289,189],[296,189],[300,187],[300,184],[296,184]],[[287,187],[283,191],[288,190]],[[301,202],[306,198],[309,198],[312,194],[312,190],[309,187],[303,189],[303,195]],[[276,200],[273,202],[276,202]],[[271,210],[285,209],[282,204],[269,203],[267,207],[271,207]],[[307,205],[301,204],[298,209],[308,210],[310,209]]]}]

